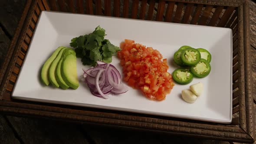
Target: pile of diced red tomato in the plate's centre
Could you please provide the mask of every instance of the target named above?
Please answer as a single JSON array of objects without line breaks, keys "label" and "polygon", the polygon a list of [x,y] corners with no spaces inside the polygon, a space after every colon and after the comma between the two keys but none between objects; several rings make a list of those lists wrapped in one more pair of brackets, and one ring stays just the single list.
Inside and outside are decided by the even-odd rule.
[{"label": "pile of diced red tomato in the plate's centre", "polygon": [[133,88],[139,88],[151,100],[162,101],[174,86],[172,76],[167,72],[167,59],[152,47],[145,47],[134,40],[125,39],[120,45],[124,81]]}]

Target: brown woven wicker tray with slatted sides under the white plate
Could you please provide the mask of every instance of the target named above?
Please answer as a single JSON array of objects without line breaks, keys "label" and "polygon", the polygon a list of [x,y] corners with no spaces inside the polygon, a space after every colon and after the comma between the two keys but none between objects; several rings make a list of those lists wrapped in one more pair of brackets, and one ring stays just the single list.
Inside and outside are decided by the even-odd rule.
[{"label": "brown woven wicker tray with slatted sides under the white plate", "polygon": [[[108,124],[194,137],[252,143],[254,116],[249,43],[249,6],[244,0],[27,0],[0,71],[0,111],[13,115]],[[233,29],[233,122],[229,125],[67,105],[19,101],[13,85],[39,14],[63,11],[220,26]]]}]

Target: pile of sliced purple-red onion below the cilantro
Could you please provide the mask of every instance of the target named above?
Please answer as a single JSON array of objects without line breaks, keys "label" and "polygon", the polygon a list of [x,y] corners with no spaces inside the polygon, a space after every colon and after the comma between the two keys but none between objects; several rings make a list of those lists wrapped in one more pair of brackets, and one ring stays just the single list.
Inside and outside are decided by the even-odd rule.
[{"label": "pile of sliced purple-red onion below the cilantro", "polygon": [[121,83],[121,74],[114,65],[97,61],[95,67],[84,70],[85,82],[93,95],[108,98],[110,93],[121,94],[128,87]]}]

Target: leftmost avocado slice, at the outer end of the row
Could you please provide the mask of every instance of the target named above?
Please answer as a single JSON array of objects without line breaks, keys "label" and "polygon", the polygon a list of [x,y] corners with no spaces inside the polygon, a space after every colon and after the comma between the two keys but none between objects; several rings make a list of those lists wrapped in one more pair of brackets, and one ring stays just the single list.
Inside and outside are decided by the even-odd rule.
[{"label": "leftmost avocado slice, at the outer end of the row", "polygon": [[49,85],[50,81],[49,81],[49,77],[48,77],[48,70],[49,70],[49,67],[50,65],[52,64],[53,60],[56,58],[56,56],[58,55],[59,51],[61,49],[63,49],[64,46],[59,46],[52,54],[52,56],[50,56],[46,62],[43,64],[43,67],[41,69],[41,79],[42,79],[42,82],[45,84],[45,85]]}]

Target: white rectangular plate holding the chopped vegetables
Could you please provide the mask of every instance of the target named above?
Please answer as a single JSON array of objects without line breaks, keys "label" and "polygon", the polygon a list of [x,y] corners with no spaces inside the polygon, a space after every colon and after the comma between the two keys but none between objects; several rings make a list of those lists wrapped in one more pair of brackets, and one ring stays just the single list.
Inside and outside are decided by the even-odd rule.
[{"label": "white rectangular plate holding the chopped vegetables", "polygon": [[[148,100],[131,87],[124,94],[109,95],[109,99],[92,95],[80,79],[82,68],[90,67],[82,65],[81,59],[77,59],[78,89],[62,90],[42,85],[40,70],[53,51],[58,46],[69,47],[73,37],[92,33],[98,25],[106,30],[105,39],[115,46],[124,39],[133,39],[135,43],[158,49],[167,58],[170,73],[178,68],[172,61],[179,47],[188,45],[207,49],[212,54],[211,72],[206,78],[194,78],[189,85],[176,84],[164,101]],[[43,11],[13,90],[13,98],[228,124],[232,120],[231,54],[232,31],[227,28]],[[113,56],[112,64],[122,71],[117,57]],[[185,102],[181,91],[197,82],[203,83],[203,94],[193,104]]]}]

